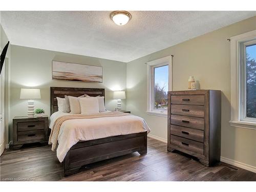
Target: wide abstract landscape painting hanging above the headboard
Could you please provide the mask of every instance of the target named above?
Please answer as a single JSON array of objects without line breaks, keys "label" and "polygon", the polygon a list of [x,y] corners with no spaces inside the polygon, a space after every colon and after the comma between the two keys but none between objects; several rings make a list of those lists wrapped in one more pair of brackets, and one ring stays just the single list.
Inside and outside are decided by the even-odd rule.
[{"label": "wide abstract landscape painting hanging above the headboard", "polygon": [[102,67],[77,63],[52,61],[52,79],[102,82]]}]

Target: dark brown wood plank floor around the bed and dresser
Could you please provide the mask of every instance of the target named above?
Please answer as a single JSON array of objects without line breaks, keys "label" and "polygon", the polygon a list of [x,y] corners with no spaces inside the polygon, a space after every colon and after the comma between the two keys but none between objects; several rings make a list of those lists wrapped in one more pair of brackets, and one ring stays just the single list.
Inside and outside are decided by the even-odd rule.
[{"label": "dark brown wood plank floor around the bed and dresser", "polygon": [[206,167],[189,156],[170,153],[166,143],[148,138],[147,155],[137,152],[83,167],[63,177],[50,145],[25,145],[0,157],[0,180],[27,181],[256,181],[256,173],[220,163]]}]

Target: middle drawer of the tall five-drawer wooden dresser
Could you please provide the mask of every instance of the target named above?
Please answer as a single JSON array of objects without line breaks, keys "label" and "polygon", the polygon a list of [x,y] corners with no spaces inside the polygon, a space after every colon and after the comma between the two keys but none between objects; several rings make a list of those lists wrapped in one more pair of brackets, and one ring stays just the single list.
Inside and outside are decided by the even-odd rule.
[{"label": "middle drawer of the tall five-drawer wooden dresser", "polygon": [[204,130],[204,119],[198,117],[171,115],[170,124]]}]

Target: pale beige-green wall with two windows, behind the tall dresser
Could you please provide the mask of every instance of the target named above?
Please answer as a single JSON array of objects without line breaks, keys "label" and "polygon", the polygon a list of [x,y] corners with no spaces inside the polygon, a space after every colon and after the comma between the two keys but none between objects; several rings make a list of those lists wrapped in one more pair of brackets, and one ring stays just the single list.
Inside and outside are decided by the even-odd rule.
[{"label": "pale beige-green wall with two windows, behind the tall dresser", "polygon": [[221,156],[256,166],[256,131],[229,125],[230,43],[228,37],[256,29],[256,17],[227,26],[127,63],[127,110],[143,117],[151,134],[167,139],[167,118],[146,114],[147,61],[167,55],[173,59],[173,90],[187,90],[189,76],[201,89],[222,91]]}]

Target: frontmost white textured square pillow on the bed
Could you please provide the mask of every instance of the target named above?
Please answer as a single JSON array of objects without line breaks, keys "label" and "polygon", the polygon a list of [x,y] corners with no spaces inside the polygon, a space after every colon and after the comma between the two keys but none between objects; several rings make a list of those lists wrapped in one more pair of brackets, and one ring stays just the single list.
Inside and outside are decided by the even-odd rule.
[{"label": "frontmost white textured square pillow on the bed", "polygon": [[99,101],[96,97],[78,98],[81,106],[81,114],[99,113]]}]

